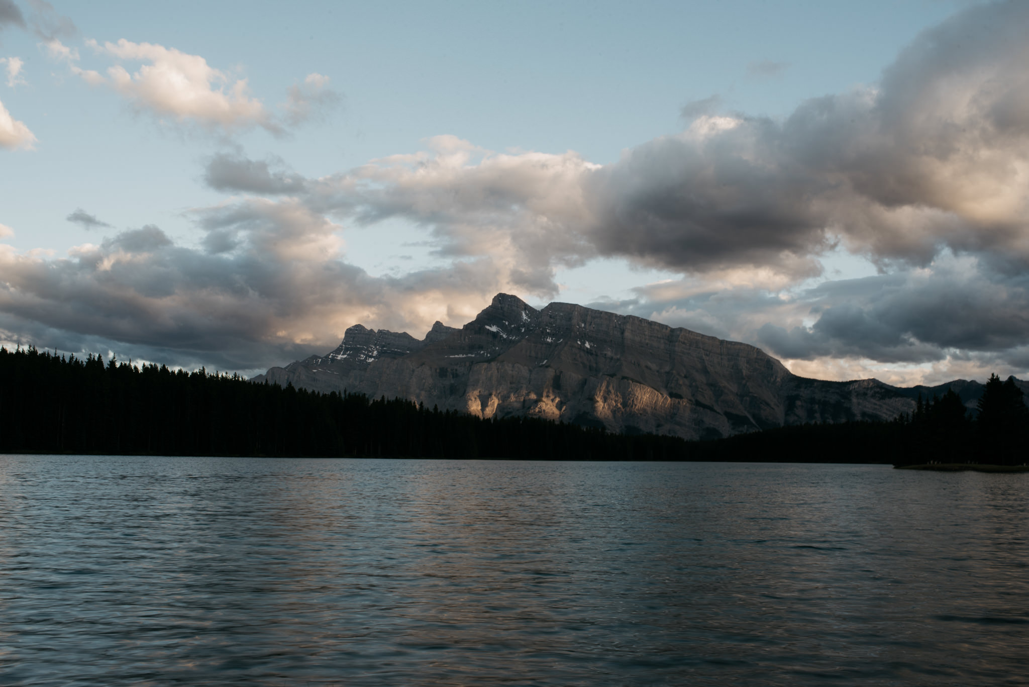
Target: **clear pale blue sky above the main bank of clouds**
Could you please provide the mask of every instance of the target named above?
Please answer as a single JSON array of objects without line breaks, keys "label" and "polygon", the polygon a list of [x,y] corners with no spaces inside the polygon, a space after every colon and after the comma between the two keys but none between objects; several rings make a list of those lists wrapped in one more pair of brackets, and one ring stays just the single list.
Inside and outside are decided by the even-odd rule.
[{"label": "clear pale blue sky above the main bank of clouds", "polygon": [[[26,16],[32,5],[22,3]],[[453,134],[492,150],[575,150],[600,164],[682,128],[684,105],[712,96],[729,109],[783,116],[802,100],[875,82],[946,2],[880,3],[54,3],[77,28],[66,40],[149,42],[199,55],[246,78],[268,103],[317,72],[342,107],[285,139],[184,134],[75,79],[7,30],[5,56],[27,83],[0,99],[39,142],[5,156],[12,244],[63,251],[81,234],[64,217],[85,209],[115,227],[158,224],[183,238],[183,208],[219,200],[199,181],[212,151],[237,144],[321,176]],[[765,68],[765,71],[761,68]],[[771,67],[771,69],[769,69]]]}]

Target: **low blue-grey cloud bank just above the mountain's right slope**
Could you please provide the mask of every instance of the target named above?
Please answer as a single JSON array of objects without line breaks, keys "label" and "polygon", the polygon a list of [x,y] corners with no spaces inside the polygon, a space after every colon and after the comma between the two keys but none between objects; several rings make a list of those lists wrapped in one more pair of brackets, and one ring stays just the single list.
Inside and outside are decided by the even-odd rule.
[{"label": "low blue-grey cloud bank just above the mountain's right slope", "polygon": [[684,277],[592,304],[753,344],[794,374],[888,383],[1029,373],[1029,277],[972,256],[802,289],[759,277]]}]

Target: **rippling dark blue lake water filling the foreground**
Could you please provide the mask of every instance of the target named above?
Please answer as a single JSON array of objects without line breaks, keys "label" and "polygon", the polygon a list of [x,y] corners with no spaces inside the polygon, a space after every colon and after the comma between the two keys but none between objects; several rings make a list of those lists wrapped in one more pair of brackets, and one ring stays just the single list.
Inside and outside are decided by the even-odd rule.
[{"label": "rippling dark blue lake water filling the foreground", "polygon": [[0,456],[0,684],[1020,684],[1029,475]]}]

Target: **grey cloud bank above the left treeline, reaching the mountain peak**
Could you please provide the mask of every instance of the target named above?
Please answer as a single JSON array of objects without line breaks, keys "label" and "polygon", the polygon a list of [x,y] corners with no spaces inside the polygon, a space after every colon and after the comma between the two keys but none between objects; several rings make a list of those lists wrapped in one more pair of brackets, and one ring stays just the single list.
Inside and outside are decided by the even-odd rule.
[{"label": "grey cloud bank above the left treeline, reaching the mountain peak", "polygon": [[0,330],[61,350],[256,371],[323,353],[358,321],[419,337],[437,318],[463,323],[509,285],[488,259],[371,276],[343,260],[341,228],[294,199],[191,216],[196,248],[154,226],[64,259],[0,245]]}]

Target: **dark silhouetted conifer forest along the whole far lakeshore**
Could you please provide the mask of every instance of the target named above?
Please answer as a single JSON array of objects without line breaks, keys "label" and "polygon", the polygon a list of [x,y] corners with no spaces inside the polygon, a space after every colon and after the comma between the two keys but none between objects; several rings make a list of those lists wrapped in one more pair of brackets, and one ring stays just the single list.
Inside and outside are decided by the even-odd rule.
[{"label": "dark silhouetted conifer forest along the whole far lakeshore", "polygon": [[991,376],[978,413],[953,391],[890,422],[805,424],[708,442],[538,418],[482,419],[399,399],[317,393],[239,375],[0,348],[0,453],[751,460],[1026,461],[1029,409]]}]

